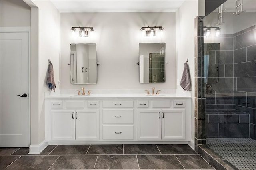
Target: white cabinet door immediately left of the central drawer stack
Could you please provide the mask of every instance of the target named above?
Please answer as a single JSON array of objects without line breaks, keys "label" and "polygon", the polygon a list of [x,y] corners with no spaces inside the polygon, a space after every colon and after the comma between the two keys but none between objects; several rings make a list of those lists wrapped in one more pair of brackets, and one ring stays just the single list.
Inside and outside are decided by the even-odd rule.
[{"label": "white cabinet door immediately left of the central drawer stack", "polygon": [[76,140],[99,140],[99,110],[76,110]]}]

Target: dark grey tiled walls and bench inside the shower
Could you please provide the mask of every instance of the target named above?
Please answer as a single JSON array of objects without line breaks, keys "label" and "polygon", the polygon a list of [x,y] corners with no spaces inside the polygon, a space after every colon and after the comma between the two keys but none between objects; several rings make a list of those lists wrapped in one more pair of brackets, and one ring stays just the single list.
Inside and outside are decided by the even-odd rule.
[{"label": "dark grey tiled walls and bench inside the shower", "polygon": [[219,49],[218,43],[204,43],[212,87],[206,86],[206,138],[255,139],[255,35],[252,26],[215,38]]}]

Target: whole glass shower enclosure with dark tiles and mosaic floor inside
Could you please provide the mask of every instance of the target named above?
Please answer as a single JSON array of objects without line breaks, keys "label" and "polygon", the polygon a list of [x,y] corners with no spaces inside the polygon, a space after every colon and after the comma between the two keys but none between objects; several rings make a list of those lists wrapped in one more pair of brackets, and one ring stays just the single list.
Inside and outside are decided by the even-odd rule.
[{"label": "whole glass shower enclosure with dark tiles and mosaic floor inside", "polygon": [[206,145],[256,169],[256,0],[227,0],[203,25]]}]

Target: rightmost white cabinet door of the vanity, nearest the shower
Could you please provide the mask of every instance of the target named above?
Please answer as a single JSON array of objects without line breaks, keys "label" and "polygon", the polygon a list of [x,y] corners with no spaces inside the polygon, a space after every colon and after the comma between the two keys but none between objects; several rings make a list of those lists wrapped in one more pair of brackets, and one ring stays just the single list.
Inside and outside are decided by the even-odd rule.
[{"label": "rightmost white cabinet door of the vanity, nearest the shower", "polygon": [[162,139],[185,139],[185,109],[162,109]]}]

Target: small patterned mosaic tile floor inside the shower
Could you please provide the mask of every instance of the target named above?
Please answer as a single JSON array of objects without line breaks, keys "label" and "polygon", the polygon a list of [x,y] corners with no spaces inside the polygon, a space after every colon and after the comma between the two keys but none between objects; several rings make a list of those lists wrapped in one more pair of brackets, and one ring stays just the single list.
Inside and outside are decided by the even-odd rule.
[{"label": "small patterned mosaic tile floor inside the shower", "polygon": [[256,140],[207,138],[206,145],[240,170],[256,170]]}]

